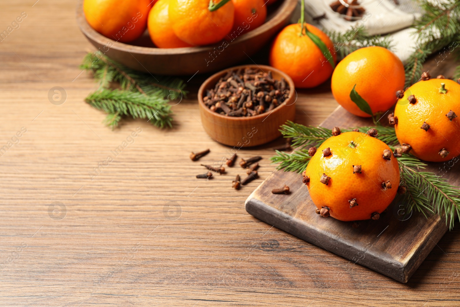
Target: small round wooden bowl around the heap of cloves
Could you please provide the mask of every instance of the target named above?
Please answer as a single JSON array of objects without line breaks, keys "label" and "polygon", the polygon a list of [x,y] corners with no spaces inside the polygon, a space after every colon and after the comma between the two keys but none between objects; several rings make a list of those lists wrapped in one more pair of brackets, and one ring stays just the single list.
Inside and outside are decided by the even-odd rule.
[{"label": "small round wooden bowl around the heap of cloves", "polygon": [[[284,78],[289,84],[289,98],[272,111],[256,116],[233,117],[211,111],[203,102],[203,94],[205,94],[207,90],[214,88],[219,79],[226,75],[229,70],[246,67],[251,69],[260,68],[264,72],[270,70],[273,79],[276,80]],[[232,67],[207,78],[198,90],[201,124],[207,134],[224,145],[242,148],[265,144],[281,135],[278,129],[282,124],[288,120],[294,120],[296,98],[297,95],[295,93],[294,82],[281,70],[266,65],[242,65]]]}]

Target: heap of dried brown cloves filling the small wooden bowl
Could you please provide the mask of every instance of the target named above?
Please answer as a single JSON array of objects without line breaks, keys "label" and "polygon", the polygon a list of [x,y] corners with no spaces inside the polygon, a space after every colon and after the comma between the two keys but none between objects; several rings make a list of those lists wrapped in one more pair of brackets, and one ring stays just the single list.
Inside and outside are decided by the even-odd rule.
[{"label": "heap of dried brown cloves filling the small wooden bowl", "polygon": [[275,109],[289,98],[289,85],[273,79],[271,71],[230,70],[203,97],[204,104],[226,116],[255,116]]}]

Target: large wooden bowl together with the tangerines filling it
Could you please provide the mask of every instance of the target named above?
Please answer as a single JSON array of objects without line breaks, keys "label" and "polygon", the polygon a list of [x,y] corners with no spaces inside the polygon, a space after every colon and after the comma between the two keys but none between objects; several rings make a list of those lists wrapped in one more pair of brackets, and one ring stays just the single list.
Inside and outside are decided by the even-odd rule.
[{"label": "large wooden bowl together with the tangerines filling it", "polygon": [[85,0],[88,40],[129,68],[160,75],[217,71],[250,57],[288,22],[296,0]]}]

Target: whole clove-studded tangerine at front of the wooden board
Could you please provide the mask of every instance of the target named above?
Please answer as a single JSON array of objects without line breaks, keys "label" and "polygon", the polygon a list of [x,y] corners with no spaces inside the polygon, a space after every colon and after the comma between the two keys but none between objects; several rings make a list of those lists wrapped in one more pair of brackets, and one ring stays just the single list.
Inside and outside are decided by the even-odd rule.
[{"label": "whole clove-studded tangerine at front of the wooden board", "polygon": [[318,151],[326,148],[331,154],[312,156],[303,177],[316,208],[328,208],[321,215],[354,221],[382,213],[399,185],[398,162],[390,147],[367,133],[345,132],[324,141]]}]

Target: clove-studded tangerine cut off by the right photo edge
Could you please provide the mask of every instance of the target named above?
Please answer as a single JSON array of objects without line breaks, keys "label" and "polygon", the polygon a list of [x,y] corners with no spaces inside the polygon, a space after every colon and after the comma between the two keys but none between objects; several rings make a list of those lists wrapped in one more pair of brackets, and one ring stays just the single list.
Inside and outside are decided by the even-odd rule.
[{"label": "clove-studded tangerine cut off by the right photo edge", "polygon": [[425,161],[448,161],[460,155],[460,84],[428,78],[425,74],[398,100],[396,135],[404,153]]}]

